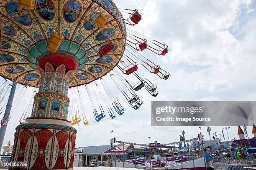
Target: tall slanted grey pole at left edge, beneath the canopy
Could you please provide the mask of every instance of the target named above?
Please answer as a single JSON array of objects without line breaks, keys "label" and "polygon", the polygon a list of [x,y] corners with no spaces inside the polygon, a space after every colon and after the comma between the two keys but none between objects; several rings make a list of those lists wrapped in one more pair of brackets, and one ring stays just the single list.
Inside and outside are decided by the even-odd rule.
[{"label": "tall slanted grey pole at left edge, beneath the canopy", "polygon": [[[3,146],[3,140],[5,138],[5,131],[6,131],[6,127],[7,127],[9,116],[10,116],[10,111],[11,111],[12,104],[13,104],[13,97],[14,97],[14,94],[15,94],[17,82],[13,82],[13,85],[10,85],[10,86],[12,86],[12,88],[10,90],[10,95],[9,95],[8,102],[7,102],[7,105],[6,105],[6,108],[5,108],[5,114],[3,116],[3,119],[1,120],[0,150]],[[2,121],[6,121],[6,125],[2,125]],[[3,122],[3,123],[5,123],[5,122]]]}]

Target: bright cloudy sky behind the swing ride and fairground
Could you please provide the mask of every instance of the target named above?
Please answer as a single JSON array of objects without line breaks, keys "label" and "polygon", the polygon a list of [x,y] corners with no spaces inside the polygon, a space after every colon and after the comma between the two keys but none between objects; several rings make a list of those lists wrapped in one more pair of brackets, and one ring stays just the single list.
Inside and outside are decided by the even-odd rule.
[{"label": "bright cloudy sky behind the swing ride and fairground", "polygon": [[[172,75],[161,80],[139,67],[139,72],[158,85],[159,96],[150,97],[146,90],[138,92],[144,101],[140,110],[133,110],[112,80],[105,80],[125,107],[125,115],[111,120],[106,117],[97,123],[92,114],[84,87],[79,87],[84,111],[90,125],[77,128],[76,147],[108,145],[113,136],[117,140],[148,143],[148,136],[161,143],[192,138],[198,127],[151,127],[151,100],[255,100],[256,95],[256,2],[254,0],[115,0],[120,8],[138,9],[141,22],[130,27],[136,32],[166,43],[169,53],[157,56],[146,50],[142,54],[161,65]],[[94,84],[93,84],[94,85]],[[8,124],[4,144],[13,141],[15,127],[24,112],[24,106],[33,93],[28,88],[24,99]],[[3,115],[1,115],[3,116]],[[2,117],[1,117],[2,118]],[[224,127],[225,125],[223,125]],[[222,127],[212,127],[212,133],[221,133]],[[251,127],[248,127],[252,137]],[[207,134],[206,127],[202,133]],[[238,138],[237,127],[229,130],[230,138]],[[225,137],[227,138],[227,136]],[[209,139],[209,137],[206,137]]]}]

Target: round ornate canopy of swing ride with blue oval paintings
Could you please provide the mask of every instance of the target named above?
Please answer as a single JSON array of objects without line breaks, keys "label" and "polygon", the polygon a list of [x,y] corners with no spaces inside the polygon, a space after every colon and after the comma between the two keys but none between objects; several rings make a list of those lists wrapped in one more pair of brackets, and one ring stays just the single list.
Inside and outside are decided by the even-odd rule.
[{"label": "round ornate canopy of swing ride with blue oval paintings", "polygon": [[[104,14],[104,27],[89,22],[97,17],[95,13]],[[0,76],[39,87],[41,75],[36,68],[50,61],[54,67],[64,64],[75,70],[69,87],[97,80],[123,56],[126,28],[118,18],[123,17],[112,0],[37,0],[36,10],[0,1]],[[46,47],[54,32],[65,39],[59,51],[52,53]],[[97,50],[108,42],[114,47],[103,60]]]}]

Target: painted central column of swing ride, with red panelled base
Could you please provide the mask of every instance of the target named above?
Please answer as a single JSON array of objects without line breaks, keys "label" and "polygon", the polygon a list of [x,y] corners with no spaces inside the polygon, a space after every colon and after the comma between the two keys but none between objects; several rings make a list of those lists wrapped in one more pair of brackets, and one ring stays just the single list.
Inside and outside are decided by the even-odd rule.
[{"label": "painted central column of swing ride, with red panelled base", "polygon": [[77,130],[67,120],[67,93],[77,60],[67,54],[62,60],[58,56],[63,57],[50,53],[38,60],[41,82],[33,111],[16,127],[12,161],[27,163],[20,168],[23,170],[73,169]]}]

